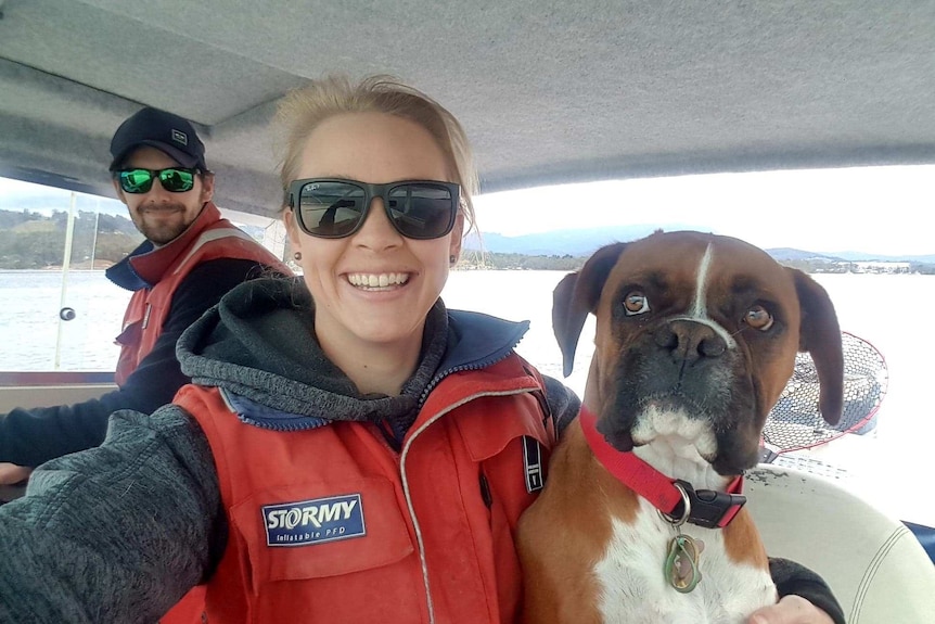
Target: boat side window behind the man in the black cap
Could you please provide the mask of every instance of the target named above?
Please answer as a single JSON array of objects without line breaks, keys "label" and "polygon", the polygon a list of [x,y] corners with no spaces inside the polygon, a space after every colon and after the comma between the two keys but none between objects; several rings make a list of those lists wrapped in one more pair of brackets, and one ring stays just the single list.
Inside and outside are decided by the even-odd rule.
[{"label": "boat side window behind the man in the black cap", "polygon": [[[283,256],[280,219],[221,213]],[[0,371],[113,371],[131,293],[104,270],[142,241],[115,199],[0,178]]]}]

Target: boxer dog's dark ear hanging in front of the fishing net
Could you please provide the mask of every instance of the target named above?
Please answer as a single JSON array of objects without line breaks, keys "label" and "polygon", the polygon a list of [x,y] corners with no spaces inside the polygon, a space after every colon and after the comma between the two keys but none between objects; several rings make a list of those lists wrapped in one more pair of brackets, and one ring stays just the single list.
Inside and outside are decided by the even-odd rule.
[{"label": "boxer dog's dark ear hanging in front of the fishing net", "polygon": [[792,272],[795,280],[802,308],[798,351],[807,351],[815,361],[822,418],[830,424],[837,424],[844,409],[844,352],[834,305],[821,284],[797,269],[786,267],[785,270]]}]

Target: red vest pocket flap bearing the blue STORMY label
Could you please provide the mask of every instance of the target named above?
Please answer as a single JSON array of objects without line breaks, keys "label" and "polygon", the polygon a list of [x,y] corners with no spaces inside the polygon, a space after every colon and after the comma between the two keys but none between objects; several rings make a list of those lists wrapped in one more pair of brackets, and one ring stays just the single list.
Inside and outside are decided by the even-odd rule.
[{"label": "red vest pocket flap bearing the blue STORMY label", "polygon": [[259,492],[231,509],[253,589],[398,562],[414,551],[393,484],[381,477],[306,482]]}]

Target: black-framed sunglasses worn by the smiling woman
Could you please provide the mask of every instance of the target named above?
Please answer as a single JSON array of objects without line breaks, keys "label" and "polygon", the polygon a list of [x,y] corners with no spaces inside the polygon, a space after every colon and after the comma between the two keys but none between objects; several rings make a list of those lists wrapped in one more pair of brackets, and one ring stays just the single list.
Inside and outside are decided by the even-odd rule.
[{"label": "black-framed sunglasses worn by the smiling woman", "polygon": [[289,186],[289,205],[298,227],[321,239],[341,239],[359,230],[373,198],[383,200],[389,222],[404,237],[437,239],[454,227],[461,187],[433,180],[368,184],[335,179],[294,180]]}]

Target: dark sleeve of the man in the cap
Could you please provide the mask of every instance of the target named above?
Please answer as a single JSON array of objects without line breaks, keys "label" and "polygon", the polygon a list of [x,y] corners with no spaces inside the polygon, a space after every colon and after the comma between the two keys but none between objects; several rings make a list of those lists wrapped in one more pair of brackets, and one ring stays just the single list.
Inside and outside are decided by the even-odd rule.
[{"label": "dark sleeve of the man in the cap", "polygon": [[[220,258],[195,267],[172,295],[153,351],[118,390],[75,405],[16,408],[0,417],[0,461],[36,467],[49,459],[101,444],[107,417],[118,409],[152,413],[170,403],[190,380],[176,358],[181,333],[221,296],[267,269],[253,260]],[[117,328],[115,328],[116,330]]]}]

